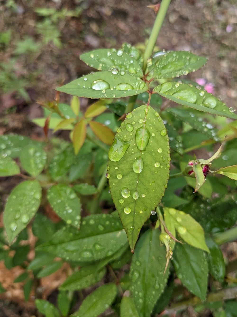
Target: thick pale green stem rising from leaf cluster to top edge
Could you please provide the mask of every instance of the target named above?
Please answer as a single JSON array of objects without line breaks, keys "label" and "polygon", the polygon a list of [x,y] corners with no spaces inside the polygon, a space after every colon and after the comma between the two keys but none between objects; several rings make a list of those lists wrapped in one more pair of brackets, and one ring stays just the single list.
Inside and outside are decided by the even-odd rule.
[{"label": "thick pale green stem rising from leaf cluster to top edge", "polygon": [[156,16],[155,23],[154,23],[154,26],[152,28],[151,35],[149,37],[149,40],[148,40],[148,43],[147,43],[147,46],[145,49],[145,53],[144,53],[144,61],[143,61],[143,72],[144,73],[145,73],[145,70],[147,68],[147,60],[151,56],[153,49],[155,47],[155,43],[156,43],[157,37],[160,33],[161,26],[162,26],[162,23],[164,21],[168,6],[170,4],[170,1],[171,0],[162,0],[162,2],[161,2],[161,6],[160,6],[160,9],[159,9],[158,14]]}]

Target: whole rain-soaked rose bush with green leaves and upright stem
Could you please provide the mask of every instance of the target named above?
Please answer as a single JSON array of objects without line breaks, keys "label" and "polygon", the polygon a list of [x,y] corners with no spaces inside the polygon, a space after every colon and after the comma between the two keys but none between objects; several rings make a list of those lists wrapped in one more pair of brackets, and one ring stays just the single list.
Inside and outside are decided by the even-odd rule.
[{"label": "whole rain-soaked rose bush with green leaves and upright stem", "polygon": [[[153,51],[169,3],[161,2],[144,54],[124,43],[80,56],[98,72],[41,102],[45,116],[34,122],[44,128],[45,143],[0,139],[0,176],[26,178],[5,205],[5,265],[25,268],[17,281],[26,281],[26,300],[35,281],[64,262],[70,268],[57,307],[36,299],[46,316],[108,310],[149,317],[188,305],[219,316],[235,305],[229,273],[236,263],[226,266],[219,246],[237,237],[237,116],[204,87],[177,79],[204,66],[205,57]],[[73,96],[70,105],[60,103],[59,92]],[[82,113],[78,97],[97,100]],[[69,130],[71,143],[48,140],[49,129]],[[205,159],[193,155],[199,148]],[[46,217],[45,206],[60,221]],[[30,262],[21,244],[28,225],[38,237]]]}]

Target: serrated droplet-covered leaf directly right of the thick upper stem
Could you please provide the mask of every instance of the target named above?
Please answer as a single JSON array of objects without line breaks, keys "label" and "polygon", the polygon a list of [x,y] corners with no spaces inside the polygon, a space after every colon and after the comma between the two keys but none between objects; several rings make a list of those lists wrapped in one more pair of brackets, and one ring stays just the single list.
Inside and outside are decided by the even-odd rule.
[{"label": "serrated droplet-covered leaf directly right of the thick upper stem", "polygon": [[190,52],[169,52],[155,63],[153,77],[173,78],[195,72],[205,65],[207,59]]}]

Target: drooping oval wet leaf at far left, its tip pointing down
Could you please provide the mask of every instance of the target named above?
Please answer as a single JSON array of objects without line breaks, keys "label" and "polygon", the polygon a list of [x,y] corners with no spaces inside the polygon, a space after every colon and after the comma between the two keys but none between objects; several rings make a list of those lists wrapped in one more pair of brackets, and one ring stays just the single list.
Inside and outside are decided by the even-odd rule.
[{"label": "drooping oval wet leaf at far left, its tip pointing down", "polygon": [[26,228],[40,206],[41,187],[37,180],[18,184],[10,193],[3,221],[10,243]]}]

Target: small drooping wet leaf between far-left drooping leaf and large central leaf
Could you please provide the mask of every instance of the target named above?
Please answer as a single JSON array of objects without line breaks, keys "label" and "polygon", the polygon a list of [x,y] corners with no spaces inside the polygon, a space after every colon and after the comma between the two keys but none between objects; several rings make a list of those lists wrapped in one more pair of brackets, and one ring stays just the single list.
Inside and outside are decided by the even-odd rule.
[{"label": "small drooping wet leaf between far-left drooping leaf and large central leaf", "polygon": [[47,199],[61,219],[80,228],[81,202],[71,187],[64,184],[54,185],[48,190]]}]

